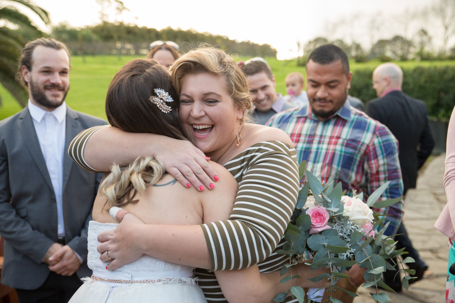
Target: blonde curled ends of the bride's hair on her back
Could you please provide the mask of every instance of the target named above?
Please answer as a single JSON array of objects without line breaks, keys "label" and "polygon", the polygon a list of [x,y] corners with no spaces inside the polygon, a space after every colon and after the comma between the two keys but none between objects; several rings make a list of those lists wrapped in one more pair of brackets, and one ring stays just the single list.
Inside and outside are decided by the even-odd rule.
[{"label": "blonde curled ends of the bride's hair on her back", "polygon": [[133,200],[136,193],[143,194],[147,185],[157,183],[165,174],[161,160],[150,156],[138,157],[126,167],[114,164],[110,169],[111,173],[100,185],[110,207],[138,202]]}]

